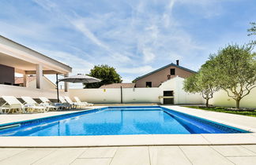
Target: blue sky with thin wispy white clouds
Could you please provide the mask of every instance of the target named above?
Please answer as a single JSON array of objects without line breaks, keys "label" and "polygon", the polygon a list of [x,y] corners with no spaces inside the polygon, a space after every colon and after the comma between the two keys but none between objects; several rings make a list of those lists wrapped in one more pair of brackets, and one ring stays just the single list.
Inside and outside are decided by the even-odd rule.
[{"label": "blue sky with thin wispy white clouds", "polygon": [[198,71],[210,53],[254,39],[247,29],[256,22],[255,0],[0,0],[0,6],[0,35],[69,65],[71,75],[108,64],[124,83],[176,60]]}]

